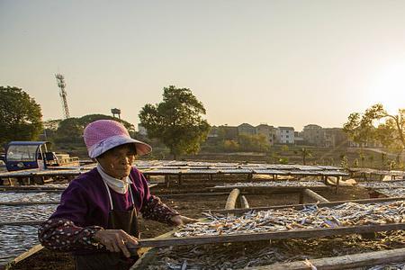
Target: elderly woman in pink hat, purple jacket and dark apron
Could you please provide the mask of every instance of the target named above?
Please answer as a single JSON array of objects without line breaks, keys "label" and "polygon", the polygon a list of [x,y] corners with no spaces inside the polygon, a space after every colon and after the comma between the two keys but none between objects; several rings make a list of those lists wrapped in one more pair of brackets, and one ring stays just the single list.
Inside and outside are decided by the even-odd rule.
[{"label": "elderly woman in pink hat, purple jacket and dark apron", "polygon": [[62,193],[60,205],[39,229],[40,243],[73,251],[76,269],[129,269],[138,257],[128,247],[139,238],[138,213],[145,219],[181,225],[179,215],[149,193],[145,176],[132,166],[151,151],[131,139],[117,121],[94,121],[85,128],[85,145],[97,166],[78,176]]}]

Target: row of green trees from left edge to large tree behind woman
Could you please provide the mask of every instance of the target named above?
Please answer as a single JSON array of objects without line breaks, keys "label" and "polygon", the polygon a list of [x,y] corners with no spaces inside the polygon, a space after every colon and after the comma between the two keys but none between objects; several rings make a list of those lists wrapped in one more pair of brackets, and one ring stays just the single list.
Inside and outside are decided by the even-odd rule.
[{"label": "row of green trees from left edge to large tree behind woman", "polygon": [[[208,121],[203,119],[205,113],[202,103],[190,89],[170,85],[163,89],[161,103],[148,103],[141,108],[139,119],[148,130],[148,139],[160,140],[176,157],[199,151],[210,130]],[[0,145],[3,147],[11,140],[35,140],[40,135],[56,144],[84,146],[85,126],[100,119],[121,121],[131,137],[139,136],[129,121],[104,114],[42,121],[40,104],[23,89],[0,86]]]}]

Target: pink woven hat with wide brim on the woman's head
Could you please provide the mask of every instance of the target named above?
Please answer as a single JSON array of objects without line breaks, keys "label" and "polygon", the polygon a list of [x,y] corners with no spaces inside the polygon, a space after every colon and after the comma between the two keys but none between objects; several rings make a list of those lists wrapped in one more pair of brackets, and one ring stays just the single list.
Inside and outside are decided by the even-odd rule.
[{"label": "pink woven hat with wide brim on the woman's head", "polygon": [[98,157],[107,150],[126,143],[134,143],[139,156],[152,151],[147,143],[130,138],[128,130],[118,121],[93,121],[85,127],[84,138],[88,156],[91,158]]}]

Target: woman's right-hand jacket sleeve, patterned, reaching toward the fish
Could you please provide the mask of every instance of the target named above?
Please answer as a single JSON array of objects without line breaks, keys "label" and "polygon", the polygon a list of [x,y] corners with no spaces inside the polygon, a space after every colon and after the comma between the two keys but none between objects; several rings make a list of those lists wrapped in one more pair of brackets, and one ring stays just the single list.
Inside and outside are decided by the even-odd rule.
[{"label": "woman's right-hand jacket sleeve, patterned, reaching toward the fish", "polygon": [[173,216],[179,215],[179,213],[168,207],[160,200],[159,197],[151,195],[148,188],[148,181],[146,180],[144,175],[139,175],[145,192],[142,208],[140,209],[142,216],[147,220],[157,220],[169,225],[174,225],[174,223],[171,222],[170,219]]}]

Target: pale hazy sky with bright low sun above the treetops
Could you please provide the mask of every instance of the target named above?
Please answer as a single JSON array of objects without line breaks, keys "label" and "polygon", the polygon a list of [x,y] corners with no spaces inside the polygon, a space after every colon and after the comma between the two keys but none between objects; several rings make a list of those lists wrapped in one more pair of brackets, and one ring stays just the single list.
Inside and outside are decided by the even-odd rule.
[{"label": "pale hazy sky with bright low sun above the treetops", "polygon": [[176,85],[214,125],[339,127],[405,108],[405,1],[0,0],[0,85],[61,118],[58,72],[71,116],[137,124]]}]

